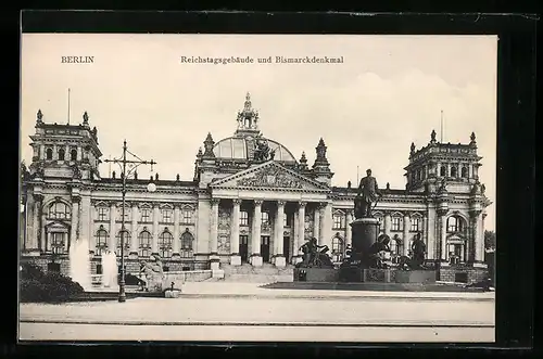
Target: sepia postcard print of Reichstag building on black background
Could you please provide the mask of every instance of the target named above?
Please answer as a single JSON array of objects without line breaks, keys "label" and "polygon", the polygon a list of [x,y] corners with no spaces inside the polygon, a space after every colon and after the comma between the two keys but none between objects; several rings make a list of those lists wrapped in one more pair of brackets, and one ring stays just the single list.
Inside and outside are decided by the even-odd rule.
[{"label": "sepia postcard print of Reichstag building on black background", "polygon": [[21,35],[21,342],[494,343],[496,36]]}]

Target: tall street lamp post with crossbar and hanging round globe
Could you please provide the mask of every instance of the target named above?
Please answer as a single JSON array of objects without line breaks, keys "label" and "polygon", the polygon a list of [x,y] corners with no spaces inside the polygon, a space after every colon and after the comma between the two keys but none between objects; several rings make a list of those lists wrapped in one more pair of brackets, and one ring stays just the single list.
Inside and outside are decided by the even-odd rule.
[{"label": "tall street lamp post with crossbar and hanging round globe", "polygon": [[[137,159],[131,161],[131,159],[126,159],[126,154],[129,153]],[[136,156],[134,153],[129,152],[128,149],[126,148],[126,140],[123,142],[123,157],[122,158],[114,158],[114,159],[104,159],[106,163],[115,163],[121,166],[122,171],[122,183],[123,183],[123,189],[122,189],[122,195],[123,195],[123,205],[122,205],[122,213],[121,213],[121,280],[118,281],[118,302],[124,303],[126,302],[126,293],[125,293],[125,198],[126,198],[126,178],[136,171],[136,168],[140,165],[151,165],[151,171],[153,170],[153,165],[156,165],[154,161],[143,161]],[[126,169],[126,166],[130,166],[130,168]],[[156,190],[156,187],[154,183],[150,182],[147,187],[149,192],[154,192]]]}]

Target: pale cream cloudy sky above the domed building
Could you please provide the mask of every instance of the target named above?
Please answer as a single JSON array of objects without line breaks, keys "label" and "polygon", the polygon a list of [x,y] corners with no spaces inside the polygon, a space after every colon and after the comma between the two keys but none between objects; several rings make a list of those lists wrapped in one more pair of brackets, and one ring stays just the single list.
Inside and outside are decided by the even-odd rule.
[{"label": "pale cream cloudy sky above the domed building", "polygon": [[[93,56],[93,63],[62,63]],[[250,56],[252,64],[182,63],[181,56]],[[263,64],[258,57],[343,56],[341,64]],[[102,159],[119,157],[123,140],[142,159],[139,170],[161,179],[191,180],[198,149],[211,132],[233,134],[236,114],[251,93],[264,137],[310,166],[323,138],[332,183],[356,182],[367,168],[379,184],[404,189],[409,146],[468,143],[475,131],[479,177],[495,228],[495,36],[362,35],[121,35],[22,36],[21,156],[31,161],[28,136],[36,113],[46,123],[80,124],[88,112]],[[68,112],[70,88],[70,112]],[[112,167],[111,170],[115,168]],[[102,164],[100,172],[109,175]],[[117,170],[118,171],[118,170]]]}]

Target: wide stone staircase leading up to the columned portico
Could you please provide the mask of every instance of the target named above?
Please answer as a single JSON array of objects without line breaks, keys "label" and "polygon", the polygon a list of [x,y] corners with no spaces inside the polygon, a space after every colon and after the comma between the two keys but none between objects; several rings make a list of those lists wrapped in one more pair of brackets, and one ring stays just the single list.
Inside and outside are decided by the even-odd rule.
[{"label": "wide stone staircase leading up to the columned portico", "polygon": [[262,267],[253,267],[249,264],[241,266],[230,266],[220,264],[220,269],[225,271],[225,282],[245,282],[245,283],[275,283],[292,282],[292,265],[285,268],[276,268],[270,264],[263,264]]}]

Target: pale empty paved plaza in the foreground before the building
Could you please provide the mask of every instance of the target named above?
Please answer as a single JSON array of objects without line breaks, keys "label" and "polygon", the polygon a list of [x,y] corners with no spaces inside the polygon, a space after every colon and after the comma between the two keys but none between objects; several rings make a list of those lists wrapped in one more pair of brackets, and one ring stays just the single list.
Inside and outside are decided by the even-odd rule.
[{"label": "pale empty paved plaza in the foreground before the building", "polygon": [[179,298],[22,304],[20,338],[493,342],[493,293],[266,290],[187,283]]}]

